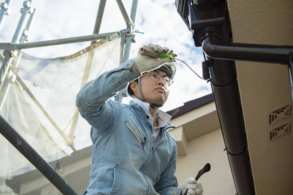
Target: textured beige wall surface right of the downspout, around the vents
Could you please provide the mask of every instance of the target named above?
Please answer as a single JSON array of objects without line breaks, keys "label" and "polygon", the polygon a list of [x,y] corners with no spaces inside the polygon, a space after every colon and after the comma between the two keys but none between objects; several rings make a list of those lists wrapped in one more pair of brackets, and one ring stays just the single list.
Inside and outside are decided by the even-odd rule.
[{"label": "textured beige wall surface right of the downspout, around the vents", "polygon": [[[293,45],[293,1],[227,0],[233,42]],[[268,145],[267,111],[292,103],[286,65],[236,61],[257,195],[293,194],[293,137]]]}]

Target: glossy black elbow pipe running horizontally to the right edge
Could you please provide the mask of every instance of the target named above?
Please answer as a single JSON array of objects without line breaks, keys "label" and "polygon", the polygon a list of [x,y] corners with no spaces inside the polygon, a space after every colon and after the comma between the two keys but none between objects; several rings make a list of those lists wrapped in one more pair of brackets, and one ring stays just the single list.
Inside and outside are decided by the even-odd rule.
[{"label": "glossy black elbow pipe running horizontally to the right edge", "polygon": [[208,27],[199,32],[202,51],[214,59],[243,60],[267,63],[289,64],[293,54],[292,46],[260,45],[223,42],[216,27]]}]

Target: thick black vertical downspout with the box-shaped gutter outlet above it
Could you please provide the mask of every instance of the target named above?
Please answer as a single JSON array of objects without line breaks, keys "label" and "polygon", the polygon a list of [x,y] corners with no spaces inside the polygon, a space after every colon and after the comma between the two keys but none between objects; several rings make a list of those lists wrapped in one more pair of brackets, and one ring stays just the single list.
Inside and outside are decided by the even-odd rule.
[{"label": "thick black vertical downspout with the box-shaped gutter outlet above it", "polygon": [[[207,37],[217,42],[231,41],[225,0],[176,0],[176,6],[185,23],[189,24],[195,46],[202,46]],[[202,32],[206,28],[211,30]],[[235,64],[228,60],[211,61],[214,61],[210,67],[211,80],[218,86],[212,85],[212,90],[236,192],[239,195],[255,194]]]}]

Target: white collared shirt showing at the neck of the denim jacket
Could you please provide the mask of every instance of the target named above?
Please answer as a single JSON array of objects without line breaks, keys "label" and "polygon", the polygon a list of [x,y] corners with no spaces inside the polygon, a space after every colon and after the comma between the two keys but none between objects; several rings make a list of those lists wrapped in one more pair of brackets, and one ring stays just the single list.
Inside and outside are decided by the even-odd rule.
[{"label": "white collared shirt showing at the neck of the denim jacket", "polygon": [[[154,118],[149,113],[149,103],[143,102],[140,99],[134,98],[132,101],[137,103],[142,109],[144,109],[144,112],[147,116],[147,122],[151,123],[153,125]],[[161,127],[164,127],[170,122],[172,116],[168,115],[164,111],[159,110],[159,116],[157,117],[158,127],[153,128],[153,134],[152,134],[152,146],[154,146],[160,139],[161,139]]]}]

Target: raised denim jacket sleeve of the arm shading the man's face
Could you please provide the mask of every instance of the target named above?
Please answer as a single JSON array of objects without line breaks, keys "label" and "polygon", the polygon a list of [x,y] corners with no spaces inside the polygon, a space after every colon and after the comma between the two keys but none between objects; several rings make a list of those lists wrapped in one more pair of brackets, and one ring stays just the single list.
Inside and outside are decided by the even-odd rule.
[{"label": "raised denim jacket sleeve of the arm shading the man's face", "polygon": [[122,105],[107,100],[140,76],[130,59],[85,84],[76,95],[76,106],[81,116],[100,134],[112,130],[122,117]]}]

